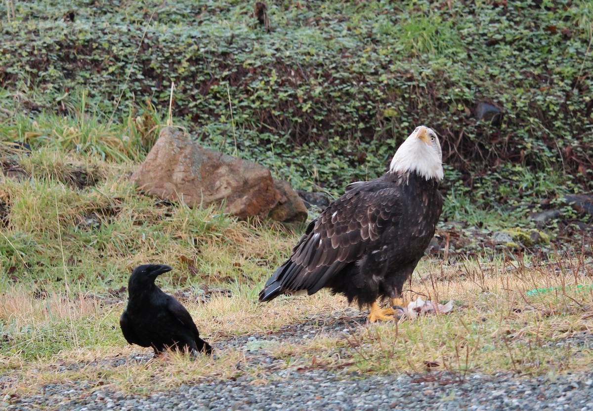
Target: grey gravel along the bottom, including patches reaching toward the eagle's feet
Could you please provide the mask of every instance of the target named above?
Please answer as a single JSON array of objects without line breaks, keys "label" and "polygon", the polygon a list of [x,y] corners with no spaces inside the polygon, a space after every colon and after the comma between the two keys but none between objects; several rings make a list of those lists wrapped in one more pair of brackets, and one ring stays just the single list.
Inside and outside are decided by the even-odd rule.
[{"label": "grey gravel along the bottom, including patches reaching toward the eagle's feet", "polygon": [[[511,374],[470,374],[463,379],[447,372],[422,375],[368,376],[345,369],[286,368],[266,348],[289,339],[298,342],[315,334],[349,334],[366,321],[357,310],[325,318],[311,317],[302,324],[276,332],[232,337],[216,343],[218,350],[240,349],[243,367],[263,366],[269,383],[254,381],[249,372],[237,380],[198,381],[176,390],[139,396],[97,388],[88,382],[46,384],[30,397],[5,396],[0,409],[16,410],[591,410],[593,371],[537,378]],[[591,347],[589,333],[576,334],[571,345]],[[82,366],[119,367],[145,362],[143,356],[111,358],[95,364],[64,364],[57,371]],[[0,376],[2,384],[8,384]]]}]

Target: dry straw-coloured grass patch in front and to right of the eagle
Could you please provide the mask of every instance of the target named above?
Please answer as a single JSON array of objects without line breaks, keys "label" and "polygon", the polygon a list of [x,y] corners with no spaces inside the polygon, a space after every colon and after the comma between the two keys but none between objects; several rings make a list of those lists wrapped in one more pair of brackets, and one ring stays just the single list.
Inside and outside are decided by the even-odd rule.
[{"label": "dry straw-coloured grass patch in front and to right of the eagle", "polygon": [[[565,267],[584,267],[565,260]],[[284,345],[275,352],[299,358],[315,367],[348,367],[360,372],[425,372],[448,370],[544,374],[585,369],[593,352],[579,344],[578,335],[591,333],[593,292],[566,286],[588,283],[587,269],[575,278],[556,264],[519,267],[499,263],[486,270],[477,263],[443,266],[435,279],[425,273],[412,283],[410,296],[455,300],[448,315],[415,321],[368,324],[342,338],[320,335],[305,346]],[[436,272],[438,267],[432,267]],[[420,270],[422,272],[422,270]],[[457,273],[457,278],[455,278]],[[533,288],[557,287],[529,297]],[[576,337],[575,342],[568,340]],[[582,341],[581,341],[582,342]]]}]

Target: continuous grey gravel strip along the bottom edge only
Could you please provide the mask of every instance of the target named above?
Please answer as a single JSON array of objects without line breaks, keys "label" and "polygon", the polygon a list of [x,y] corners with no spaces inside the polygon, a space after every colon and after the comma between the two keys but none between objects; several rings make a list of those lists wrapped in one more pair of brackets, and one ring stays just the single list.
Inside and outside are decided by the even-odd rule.
[{"label": "continuous grey gravel strip along the bottom edge only", "polygon": [[511,375],[360,378],[327,371],[280,371],[276,380],[250,384],[248,378],[183,385],[148,397],[91,386],[47,384],[44,393],[4,399],[7,411],[55,410],[593,410],[593,372],[563,377]]}]

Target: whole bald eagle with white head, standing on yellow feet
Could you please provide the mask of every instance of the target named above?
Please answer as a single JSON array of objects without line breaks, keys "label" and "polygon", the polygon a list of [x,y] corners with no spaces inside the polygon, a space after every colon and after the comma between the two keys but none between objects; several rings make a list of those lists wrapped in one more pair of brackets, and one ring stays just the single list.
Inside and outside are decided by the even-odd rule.
[{"label": "whole bald eagle with white head, standing on yellow feet", "polygon": [[403,305],[401,290],[435,234],[442,211],[438,190],[443,178],[436,133],[419,126],[401,144],[387,173],[356,181],[308,225],[259,294],[270,301],[284,292],[321,288],[341,293],[360,308],[369,305],[369,321],[393,318],[378,299]]}]

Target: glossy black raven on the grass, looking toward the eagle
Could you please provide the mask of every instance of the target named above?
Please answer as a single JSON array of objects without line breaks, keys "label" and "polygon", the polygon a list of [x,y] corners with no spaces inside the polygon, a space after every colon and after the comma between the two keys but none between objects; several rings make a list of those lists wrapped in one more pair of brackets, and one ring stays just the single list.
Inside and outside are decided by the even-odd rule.
[{"label": "glossy black raven on the grass, looking toward the eagle", "polygon": [[185,307],[154,283],[158,275],[172,269],[145,264],[133,270],[127,288],[130,298],[119,319],[123,336],[130,344],[152,347],[155,356],[167,348],[211,354],[212,347],[200,338]]}]

